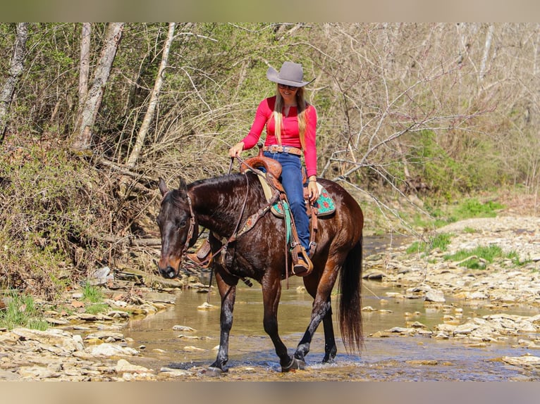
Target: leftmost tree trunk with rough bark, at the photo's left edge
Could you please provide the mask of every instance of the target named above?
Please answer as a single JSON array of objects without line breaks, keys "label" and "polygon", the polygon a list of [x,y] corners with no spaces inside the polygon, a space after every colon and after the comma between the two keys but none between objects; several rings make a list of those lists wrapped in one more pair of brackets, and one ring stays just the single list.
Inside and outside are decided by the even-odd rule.
[{"label": "leftmost tree trunk with rough bark, at the photo's left edge", "polygon": [[28,23],[18,23],[16,28],[15,46],[13,46],[13,58],[8,72],[8,78],[0,90],[0,144],[4,141],[8,127],[8,112],[15,87],[23,73],[26,39],[28,37]]}]

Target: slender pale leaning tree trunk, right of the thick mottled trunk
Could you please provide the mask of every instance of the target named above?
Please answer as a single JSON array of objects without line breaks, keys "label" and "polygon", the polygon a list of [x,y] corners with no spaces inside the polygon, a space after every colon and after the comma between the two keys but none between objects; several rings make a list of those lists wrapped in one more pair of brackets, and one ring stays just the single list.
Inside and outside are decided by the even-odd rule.
[{"label": "slender pale leaning tree trunk, right of the thick mottled trunk", "polygon": [[137,134],[135,146],[133,146],[133,150],[131,151],[130,157],[128,158],[128,167],[135,167],[135,163],[137,163],[137,160],[140,156],[142,145],[145,143],[145,137],[148,133],[150,124],[152,124],[152,120],[154,118],[154,112],[156,111],[156,106],[159,100],[159,91],[161,91],[164,72],[167,68],[168,52],[171,49],[171,44],[173,43],[175,25],[176,23],[169,23],[168,25],[167,39],[163,46],[163,53],[161,54],[161,64],[159,65],[159,70],[157,72],[156,82],[154,83],[154,89],[152,89],[152,94],[150,94],[148,109],[146,111],[145,118],[142,120],[142,125],[140,127],[139,133]]}]

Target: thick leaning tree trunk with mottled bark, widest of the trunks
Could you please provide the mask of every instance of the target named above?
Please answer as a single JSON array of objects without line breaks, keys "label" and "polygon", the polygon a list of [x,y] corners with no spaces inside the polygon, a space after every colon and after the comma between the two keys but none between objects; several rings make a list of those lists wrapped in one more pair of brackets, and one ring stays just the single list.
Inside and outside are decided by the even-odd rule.
[{"label": "thick leaning tree trunk with mottled bark, widest of the trunks", "polygon": [[75,125],[75,137],[71,148],[75,152],[85,152],[90,149],[92,144],[92,127],[97,118],[99,106],[101,106],[103,93],[111,67],[113,65],[116,50],[122,37],[122,31],[125,23],[109,23],[107,27],[106,39],[99,55],[96,72],[92,87],[88,91],[82,110],[78,116],[77,125]]}]

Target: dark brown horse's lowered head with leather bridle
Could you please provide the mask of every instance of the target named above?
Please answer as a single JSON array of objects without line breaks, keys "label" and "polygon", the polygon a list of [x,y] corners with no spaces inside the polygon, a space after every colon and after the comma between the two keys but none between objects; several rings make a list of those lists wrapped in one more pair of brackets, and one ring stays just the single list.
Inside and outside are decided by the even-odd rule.
[{"label": "dark brown horse's lowered head with leather bridle", "polygon": [[178,276],[182,258],[188,247],[195,244],[198,226],[191,206],[191,199],[183,179],[178,189],[167,189],[165,181],[159,179],[161,209],[157,217],[161,233],[161,257],[159,272],[165,278]]}]

